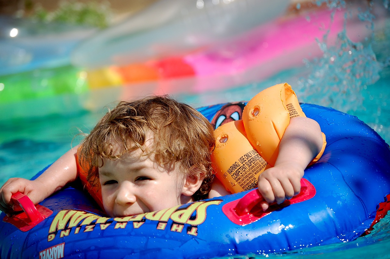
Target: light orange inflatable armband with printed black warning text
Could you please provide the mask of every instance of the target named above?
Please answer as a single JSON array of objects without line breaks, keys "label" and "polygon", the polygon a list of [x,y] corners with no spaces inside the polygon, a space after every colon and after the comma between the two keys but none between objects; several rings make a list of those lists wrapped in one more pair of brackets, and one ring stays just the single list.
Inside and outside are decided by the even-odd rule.
[{"label": "light orange inflatable armband with printed black warning text", "polygon": [[[290,119],[298,116],[306,117],[295,92],[287,83],[278,84],[255,95],[246,104],[242,120],[215,130],[212,160],[217,167],[216,176],[227,190],[236,193],[257,187],[259,175],[275,165]],[[321,152],[310,164],[321,157],[325,146],[323,134]]]}]

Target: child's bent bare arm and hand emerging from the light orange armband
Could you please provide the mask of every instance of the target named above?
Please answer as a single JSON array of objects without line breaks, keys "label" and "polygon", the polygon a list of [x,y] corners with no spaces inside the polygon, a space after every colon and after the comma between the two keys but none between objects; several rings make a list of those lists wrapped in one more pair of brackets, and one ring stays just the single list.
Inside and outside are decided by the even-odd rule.
[{"label": "child's bent bare arm and hand emerging from the light orange armband", "polygon": [[269,203],[276,201],[280,204],[299,194],[304,170],[319,153],[322,144],[321,129],[315,120],[291,118],[280,140],[275,166],[259,176],[259,191],[265,199],[260,204],[263,210],[268,209]]}]

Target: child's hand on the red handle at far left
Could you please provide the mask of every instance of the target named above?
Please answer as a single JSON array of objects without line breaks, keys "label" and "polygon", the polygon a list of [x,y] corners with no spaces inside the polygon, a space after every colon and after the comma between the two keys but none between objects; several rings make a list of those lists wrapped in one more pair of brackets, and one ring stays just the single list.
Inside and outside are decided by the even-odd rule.
[{"label": "child's hand on the red handle at far left", "polygon": [[0,189],[0,210],[8,215],[22,210],[19,205],[14,204],[11,200],[12,194],[16,192],[27,195],[34,204],[38,204],[45,198],[42,194],[45,193],[44,190],[46,189],[47,186],[38,180],[10,178]]}]

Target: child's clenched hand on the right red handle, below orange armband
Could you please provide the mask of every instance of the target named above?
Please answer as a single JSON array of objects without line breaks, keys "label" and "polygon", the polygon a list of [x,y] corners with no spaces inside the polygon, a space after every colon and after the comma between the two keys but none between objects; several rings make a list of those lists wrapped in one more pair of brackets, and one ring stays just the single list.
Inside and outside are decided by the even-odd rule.
[{"label": "child's clenched hand on the right red handle, below orange armband", "polygon": [[269,203],[280,204],[291,199],[301,191],[301,178],[304,168],[294,162],[285,162],[275,165],[259,176],[258,187],[265,201],[260,206],[265,211]]}]

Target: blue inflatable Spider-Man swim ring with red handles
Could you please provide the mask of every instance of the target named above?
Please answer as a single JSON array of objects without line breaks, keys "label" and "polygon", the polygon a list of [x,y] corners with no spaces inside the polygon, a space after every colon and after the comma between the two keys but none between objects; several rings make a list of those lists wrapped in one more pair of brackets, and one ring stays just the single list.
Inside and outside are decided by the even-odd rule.
[{"label": "blue inflatable Spider-Man swim ring with red handles", "polygon": [[[211,121],[221,107],[199,110]],[[180,208],[106,218],[89,194],[74,184],[44,200],[38,210],[47,213],[47,218],[36,226],[27,224],[24,231],[5,222],[8,217],[1,214],[1,258],[270,254],[346,242],[367,233],[389,207],[388,144],[354,116],[316,105],[301,107],[320,124],[328,143],[322,158],[305,170],[306,198],[286,201],[267,213],[254,207],[249,213],[234,215],[236,204],[254,189]],[[23,217],[12,220],[26,221]]]}]

